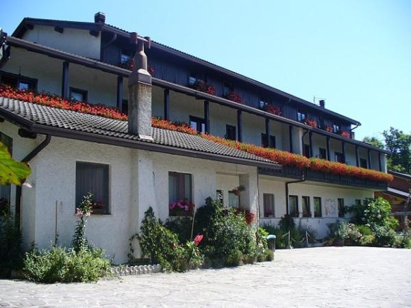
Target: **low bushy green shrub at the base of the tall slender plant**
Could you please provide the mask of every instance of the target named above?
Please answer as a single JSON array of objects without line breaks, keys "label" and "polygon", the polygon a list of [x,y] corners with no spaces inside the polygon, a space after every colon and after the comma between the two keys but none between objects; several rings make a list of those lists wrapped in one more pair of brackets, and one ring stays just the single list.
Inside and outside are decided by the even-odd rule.
[{"label": "low bushy green shrub at the base of the tall slender plant", "polygon": [[110,261],[101,249],[31,251],[24,258],[23,272],[30,281],[41,283],[97,281],[105,276]]}]

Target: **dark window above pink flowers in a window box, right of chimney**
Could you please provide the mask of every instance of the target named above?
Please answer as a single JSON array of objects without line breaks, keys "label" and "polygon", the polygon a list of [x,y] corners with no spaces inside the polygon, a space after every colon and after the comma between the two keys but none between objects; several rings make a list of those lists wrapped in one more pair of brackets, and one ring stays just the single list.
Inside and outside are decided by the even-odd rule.
[{"label": "dark window above pink flowers in a window box, right of chimney", "polygon": [[192,202],[191,198],[191,175],[169,172],[169,204],[184,199]]}]

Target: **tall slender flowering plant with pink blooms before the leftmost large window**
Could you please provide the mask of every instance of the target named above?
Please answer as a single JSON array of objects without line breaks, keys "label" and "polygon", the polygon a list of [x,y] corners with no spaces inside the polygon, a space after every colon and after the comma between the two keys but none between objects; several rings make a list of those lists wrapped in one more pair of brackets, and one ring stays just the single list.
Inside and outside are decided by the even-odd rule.
[{"label": "tall slender flowering plant with pink blooms before the leftmost large window", "polygon": [[92,194],[88,192],[86,196],[83,197],[82,203],[76,209],[76,216],[80,218],[77,220],[73,242],[71,243],[74,251],[82,251],[88,247],[88,242],[86,238],[86,222],[87,218],[90,217],[92,210]]}]

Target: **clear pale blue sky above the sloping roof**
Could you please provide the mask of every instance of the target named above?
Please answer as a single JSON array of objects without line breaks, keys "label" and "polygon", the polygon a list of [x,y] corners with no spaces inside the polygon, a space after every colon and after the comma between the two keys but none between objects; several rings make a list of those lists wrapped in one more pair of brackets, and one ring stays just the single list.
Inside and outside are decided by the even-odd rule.
[{"label": "clear pale blue sky above the sloping roof", "polygon": [[[121,3],[121,4],[120,4]],[[106,22],[359,120],[411,132],[411,1],[1,1],[25,16]]]}]

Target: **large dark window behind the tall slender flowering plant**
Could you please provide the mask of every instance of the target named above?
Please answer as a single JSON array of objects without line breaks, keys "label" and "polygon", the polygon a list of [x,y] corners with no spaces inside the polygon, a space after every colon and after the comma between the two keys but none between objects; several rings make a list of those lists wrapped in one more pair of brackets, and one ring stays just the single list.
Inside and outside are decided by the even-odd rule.
[{"label": "large dark window behind the tall slender flowering plant", "polygon": [[75,169],[75,207],[91,192],[92,214],[109,214],[108,165],[77,162]]}]

